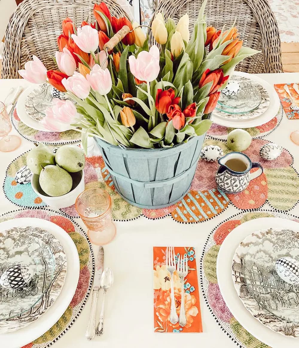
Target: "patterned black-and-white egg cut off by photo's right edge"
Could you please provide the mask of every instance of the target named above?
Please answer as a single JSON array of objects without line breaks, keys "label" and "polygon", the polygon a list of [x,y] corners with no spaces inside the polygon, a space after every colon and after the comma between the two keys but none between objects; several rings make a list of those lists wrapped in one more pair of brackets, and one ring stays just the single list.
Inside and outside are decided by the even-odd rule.
[{"label": "patterned black-and-white egg cut off by photo's right edge", "polygon": [[299,262],[289,256],[278,259],[275,269],[279,277],[288,284],[299,285]]}]

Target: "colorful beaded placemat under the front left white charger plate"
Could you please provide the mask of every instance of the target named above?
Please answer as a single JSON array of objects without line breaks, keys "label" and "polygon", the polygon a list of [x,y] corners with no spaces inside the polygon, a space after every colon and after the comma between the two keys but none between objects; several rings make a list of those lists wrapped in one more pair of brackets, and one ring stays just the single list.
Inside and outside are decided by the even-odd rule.
[{"label": "colorful beaded placemat under the front left white charger plate", "polygon": [[[56,342],[73,325],[80,315],[89,296],[94,279],[94,253],[89,239],[82,228],[70,220],[65,213],[45,208],[19,209],[0,216],[0,222],[18,217],[37,217],[51,221],[69,234],[79,254],[80,276],[75,295],[62,317],[42,336],[22,348],[46,348]],[[45,314],[46,315],[46,314]]]}]

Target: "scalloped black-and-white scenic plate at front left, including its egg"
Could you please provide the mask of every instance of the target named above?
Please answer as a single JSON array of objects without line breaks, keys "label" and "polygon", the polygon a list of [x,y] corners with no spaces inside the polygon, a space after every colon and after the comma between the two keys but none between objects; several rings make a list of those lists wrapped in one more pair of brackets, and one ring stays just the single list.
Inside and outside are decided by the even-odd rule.
[{"label": "scalloped black-and-white scenic plate at front left, including its egg", "polygon": [[1,229],[0,333],[35,321],[54,302],[66,276],[66,255],[58,239],[38,227]]}]

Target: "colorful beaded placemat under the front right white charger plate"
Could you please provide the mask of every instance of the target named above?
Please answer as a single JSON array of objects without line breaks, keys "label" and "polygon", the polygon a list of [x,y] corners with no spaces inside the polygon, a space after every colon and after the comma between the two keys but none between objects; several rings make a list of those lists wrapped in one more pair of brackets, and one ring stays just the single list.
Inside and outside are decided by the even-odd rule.
[{"label": "colorful beaded placemat under the front right white charger plate", "polygon": [[231,216],[219,223],[209,234],[204,244],[200,260],[200,279],[203,297],[212,316],[221,329],[230,339],[241,348],[270,348],[259,341],[234,318],[221,295],[217,282],[217,256],[225,237],[241,223],[260,217],[281,217],[289,220],[299,220],[299,217],[291,214],[279,213],[271,210],[258,212],[242,212]]}]

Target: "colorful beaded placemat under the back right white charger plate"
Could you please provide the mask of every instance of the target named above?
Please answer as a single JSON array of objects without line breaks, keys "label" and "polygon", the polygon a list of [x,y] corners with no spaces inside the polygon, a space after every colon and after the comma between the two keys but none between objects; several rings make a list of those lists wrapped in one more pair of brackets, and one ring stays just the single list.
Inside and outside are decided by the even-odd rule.
[{"label": "colorful beaded placemat under the back right white charger plate", "polygon": [[[252,136],[252,139],[261,139],[270,133],[274,132],[274,130],[280,125],[283,119],[283,109],[280,106],[279,110],[274,118],[272,118],[269,122],[252,128],[244,128],[247,132]],[[227,135],[235,128],[220,126],[217,123],[213,123],[211,128],[207,132],[207,136],[209,138],[215,140],[226,140]]]}]

